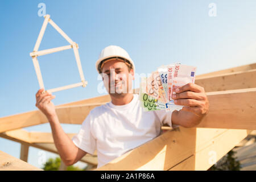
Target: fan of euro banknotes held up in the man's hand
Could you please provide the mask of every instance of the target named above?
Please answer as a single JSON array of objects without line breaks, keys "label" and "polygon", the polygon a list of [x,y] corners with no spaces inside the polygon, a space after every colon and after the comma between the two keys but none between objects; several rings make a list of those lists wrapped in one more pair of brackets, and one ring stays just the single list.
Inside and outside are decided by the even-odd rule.
[{"label": "fan of euro banknotes held up in the man's hand", "polygon": [[176,88],[188,83],[195,83],[196,67],[180,63],[163,65],[149,77],[142,77],[139,100],[144,111],[180,110],[183,106],[175,105],[172,100]]}]

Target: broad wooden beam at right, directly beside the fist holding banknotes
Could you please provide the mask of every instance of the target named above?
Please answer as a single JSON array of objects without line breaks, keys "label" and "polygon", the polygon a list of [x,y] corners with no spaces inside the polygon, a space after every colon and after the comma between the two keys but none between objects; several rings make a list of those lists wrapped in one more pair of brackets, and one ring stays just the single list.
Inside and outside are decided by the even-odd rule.
[{"label": "broad wooden beam at right, directly beside the fist holding banknotes", "polygon": [[256,88],[207,93],[209,113],[196,127],[256,129]]}]

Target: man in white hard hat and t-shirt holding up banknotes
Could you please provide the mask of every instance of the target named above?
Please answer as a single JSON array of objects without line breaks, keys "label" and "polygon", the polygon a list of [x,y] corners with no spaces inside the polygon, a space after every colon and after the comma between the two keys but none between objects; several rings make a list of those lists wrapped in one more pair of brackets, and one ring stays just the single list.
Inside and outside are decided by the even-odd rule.
[{"label": "man in white hard hat and t-shirt holding up banknotes", "polygon": [[204,88],[187,84],[175,90],[175,104],[184,105],[180,111],[143,111],[138,94],[132,93],[134,63],[129,54],[118,46],[108,46],[96,62],[111,102],[90,111],[75,137],[68,138],[61,128],[51,102],[55,96],[36,93],[36,106],[46,115],[51,125],[55,146],[63,162],[70,166],[87,153],[97,150],[98,167],[157,137],[163,124],[193,127],[200,123],[209,110]]}]

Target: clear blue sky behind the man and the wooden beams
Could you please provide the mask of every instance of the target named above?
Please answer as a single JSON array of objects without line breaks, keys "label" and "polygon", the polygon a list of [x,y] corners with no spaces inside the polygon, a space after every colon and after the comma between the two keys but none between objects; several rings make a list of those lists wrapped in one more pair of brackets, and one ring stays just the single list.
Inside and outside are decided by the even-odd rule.
[{"label": "clear blue sky behind the man and the wooden beams", "polygon": [[[256,1],[0,1],[0,117],[37,109],[39,89],[29,55],[46,14],[76,43],[86,88],[54,93],[55,105],[100,96],[95,63],[100,51],[120,46],[133,59],[137,73],[150,73],[180,61],[197,67],[197,75],[255,63]],[[210,3],[216,15],[209,16]],[[68,42],[48,24],[39,50]],[[46,89],[80,81],[72,49],[39,57]],[[18,121],[17,121],[18,122]],[[80,125],[62,125],[77,133]],[[50,132],[49,124],[26,128]],[[19,158],[20,144],[0,138],[0,150]],[[40,167],[38,152],[30,148],[28,163]],[[47,152],[47,158],[53,156]]]}]

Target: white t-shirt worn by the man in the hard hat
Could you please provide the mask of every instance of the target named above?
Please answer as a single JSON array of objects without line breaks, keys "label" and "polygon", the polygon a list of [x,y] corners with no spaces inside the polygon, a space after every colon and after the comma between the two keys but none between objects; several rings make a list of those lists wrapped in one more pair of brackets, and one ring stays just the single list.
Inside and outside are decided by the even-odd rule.
[{"label": "white t-shirt worn by the man in the hard hat", "polygon": [[172,126],[171,115],[165,110],[143,111],[138,94],[134,94],[129,104],[119,106],[108,102],[95,107],[72,140],[88,154],[97,150],[101,167],[158,137],[164,123]]}]

